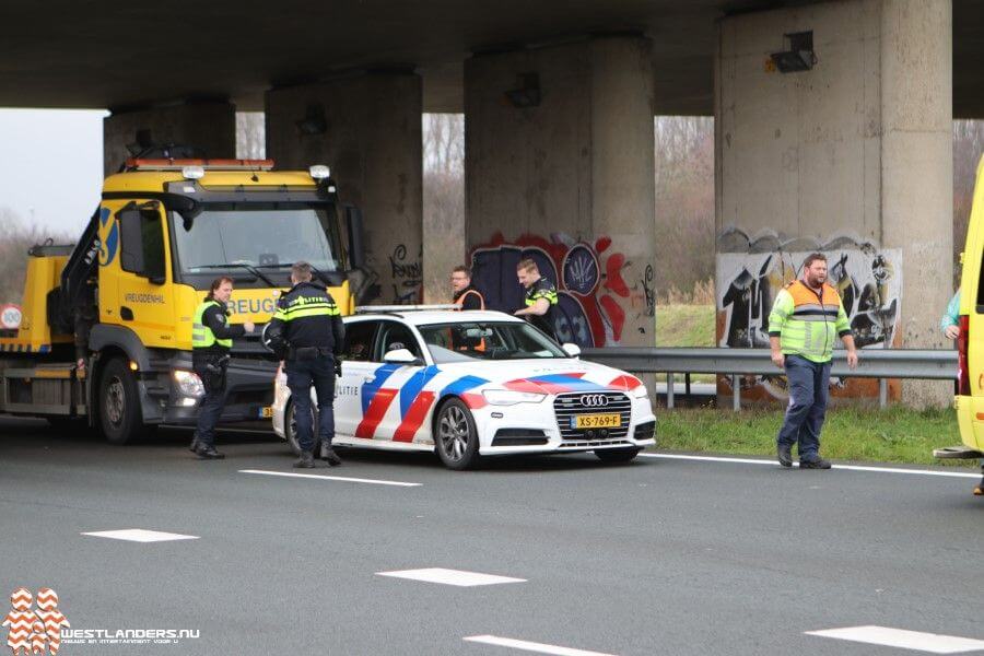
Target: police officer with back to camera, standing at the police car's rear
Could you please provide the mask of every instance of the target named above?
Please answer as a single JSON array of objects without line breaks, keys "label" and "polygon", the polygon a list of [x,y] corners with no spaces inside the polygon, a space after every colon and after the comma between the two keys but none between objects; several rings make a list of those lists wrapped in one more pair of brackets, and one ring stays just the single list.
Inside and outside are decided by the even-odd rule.
[{"label": "police officer with back to camera, standing at the police car's rear", "polygon": [[344,348],[345,329],[331,294],[324,285],[312,282],[311,265],[295,262],[291,267],[291,282],[294,286],[280,298],[267,337],[274,352],[281,350],[284,354],[288,387],[294,400],[301,446],[301,459],[294,467],[315,466],[312,385],[318,397],[320,457],[333,467],[341,465],[341,458],[331,448],[331,440],[335,437],[335,377],[341,373],[339,355]]}]

